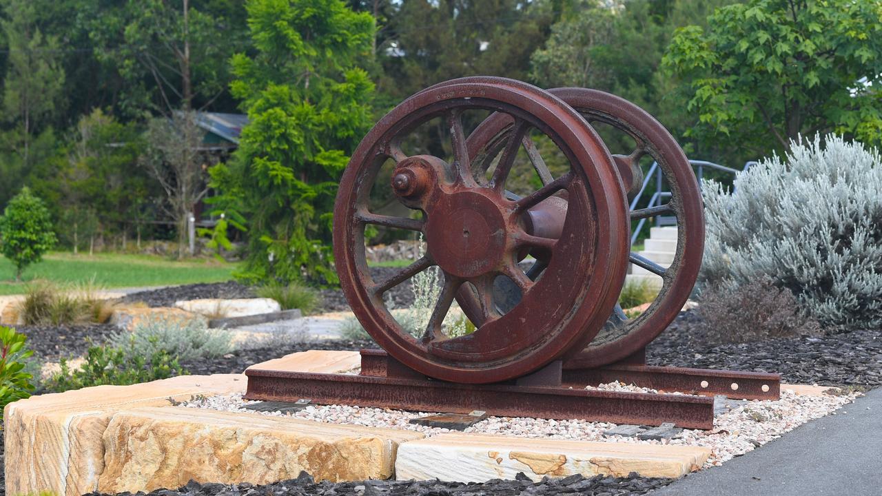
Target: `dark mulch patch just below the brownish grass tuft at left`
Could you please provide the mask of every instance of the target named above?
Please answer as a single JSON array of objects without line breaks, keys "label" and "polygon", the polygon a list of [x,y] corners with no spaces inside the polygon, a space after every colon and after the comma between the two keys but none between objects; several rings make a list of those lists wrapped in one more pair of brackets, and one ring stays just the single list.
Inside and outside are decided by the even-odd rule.
[{"label": "dark mulch patch just below the brownish grass tuft at left", "polygon": [[118,332],[110,324],[78,324],[71,326],[20,326],[27,335],[27,347],[41,361],[58,361],[60,357],[79,357],[89,346],[103,344],[110,334]]}]

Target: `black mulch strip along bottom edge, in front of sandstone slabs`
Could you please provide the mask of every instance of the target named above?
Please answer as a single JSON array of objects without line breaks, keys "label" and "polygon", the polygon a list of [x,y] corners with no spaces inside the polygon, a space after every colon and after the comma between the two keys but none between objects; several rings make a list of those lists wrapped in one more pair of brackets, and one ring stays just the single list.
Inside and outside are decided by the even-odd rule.
[{"label": "black mulch strip along bottom edge, in front of sandstone slabs", "polygon": [[[305,472],[295,479],[281,481],[268,485],[225,485],[225,484],[198,484],[191,481],[183,487],[170,491],[160,489],[149,492],[150,496],[275,496],[275,495],[355,495],[355,496],[378,496],[380,494],[415,495],[415,496],[442,496],[473,494],[486,496],[502,496],[512,494],[552,495],[552,494],[581,494],[585,496],[625,496],[646,494],[664,485],[669,485],[671,479],[643,478],[631,474],[629,477],[582,477],[579,475],[550,479],[544,478],[541,482],[533,483],[523,474],[518,474],[516,480],[494,479],[482,484],[463,484],[458,482],[429,481],[377,481],[367,480],[359,482],[319,482]],[[95,496],[100,493],[93,492]],[[130,494],[124,492],[123,494]]]}]

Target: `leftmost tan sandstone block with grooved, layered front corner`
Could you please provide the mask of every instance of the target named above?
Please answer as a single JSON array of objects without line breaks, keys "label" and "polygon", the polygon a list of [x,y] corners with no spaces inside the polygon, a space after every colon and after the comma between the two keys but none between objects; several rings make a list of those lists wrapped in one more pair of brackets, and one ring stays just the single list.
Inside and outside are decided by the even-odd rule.
[{"label": "leftmost tan sandstone block with grooved, layered front corner", "polygon": [[117,411],[193,395],[243,392],[240,374],[182,376],[134,386],[86,387],[13,402],[4,412],[6,493],[78,496],[104,469],[102,435]]}]

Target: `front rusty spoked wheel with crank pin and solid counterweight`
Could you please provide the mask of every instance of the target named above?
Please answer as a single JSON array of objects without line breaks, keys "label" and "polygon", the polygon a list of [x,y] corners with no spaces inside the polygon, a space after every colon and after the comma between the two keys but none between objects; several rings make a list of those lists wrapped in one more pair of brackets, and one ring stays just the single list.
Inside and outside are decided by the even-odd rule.
[{"label": "front rusty spoked wheel with crank pin and solid counterweight", "polygon": [[[490,179],[476,175],[462,115],[490,110],[510,119],[510,134]],[[444,118],[452,160],[407,156],[402,140],[422,123]],[[527,132],[542,132],[565,155],[570,169],[519,199],[505,181]],[[421,210],[422,220],[370,212],[370,189],[387,160],[395,162],[392,188],[399,201]],[[537,229],[534,220],[554,212],[557,222]],[[562,222],[561,222],[562,221]],[[489,383],[522,376],[584,348],[616,304],[627,268],[627,205],[615,162],[594,130],[556,97],[509,79],[453,80],[415,94],[392,109],[355,150],[334,208],[334,256],[340,284],[363,327],[392,357],[440,380]],[[368,270],[364,229],[375,224],[420,231],[428,251],[382,281]],[[526,252],[548,260],[542,278],[518,267]],[[386,308],[384,294],[429,267],[444,286],[422,335],[407,333]],[[506,312],[490,304],[500,276],[519,288]],[[475,332],[452,337],[442,323],[454,296],[467,286],[482,320]]]}]

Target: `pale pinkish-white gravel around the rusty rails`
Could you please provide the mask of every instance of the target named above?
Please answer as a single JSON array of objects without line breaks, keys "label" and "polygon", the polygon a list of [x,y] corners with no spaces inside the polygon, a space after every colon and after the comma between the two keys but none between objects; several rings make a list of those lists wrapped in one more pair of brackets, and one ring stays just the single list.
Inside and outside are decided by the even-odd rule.
[{"label": "pale pinkish-white gravel around the rusty rails", "polygon": [[[605,390],[629,391],[637,393],[656,393],[652,389],[624,385],[621,383],[602,384],[597,387]],[[844,395],[796,395],[792,391],[781,392],[781,400],[776,402],[746,402],[736,406],[714,419],[711,431],[686,429],[674,440],[638,440],[614,436],[604,438],[603,432],[614,424],[607,422],[587,422],[584,420],[550,420],[524,417],[488,417],[466,429],[465,432],[503,434],[513,437],[545,438],[557,440],[587,440],[606,442],[625,442],[643,444],[670,444],[706,446],[713,450],[705,467],[720,465],[738,455],[752,451],[781,434],[795,429],[806,422],[825,417],[834,410],[854,402],[857,393]],[[427,436],[450,432],[449,429],[425,427],[408,424],[415,417],[425,417],[431,413],[415,413],[403,410],[361,408],[357,406],[310,405],[294,414],[275,412],[255,412],[243,407],[251,402],[244,401],[242,395],[220,395],[183,402],[183,408],[205,408],[211,410],[237,411],[253,415],[271,417],[294,417],[331,424],[368,425],[418,431]]]}]

